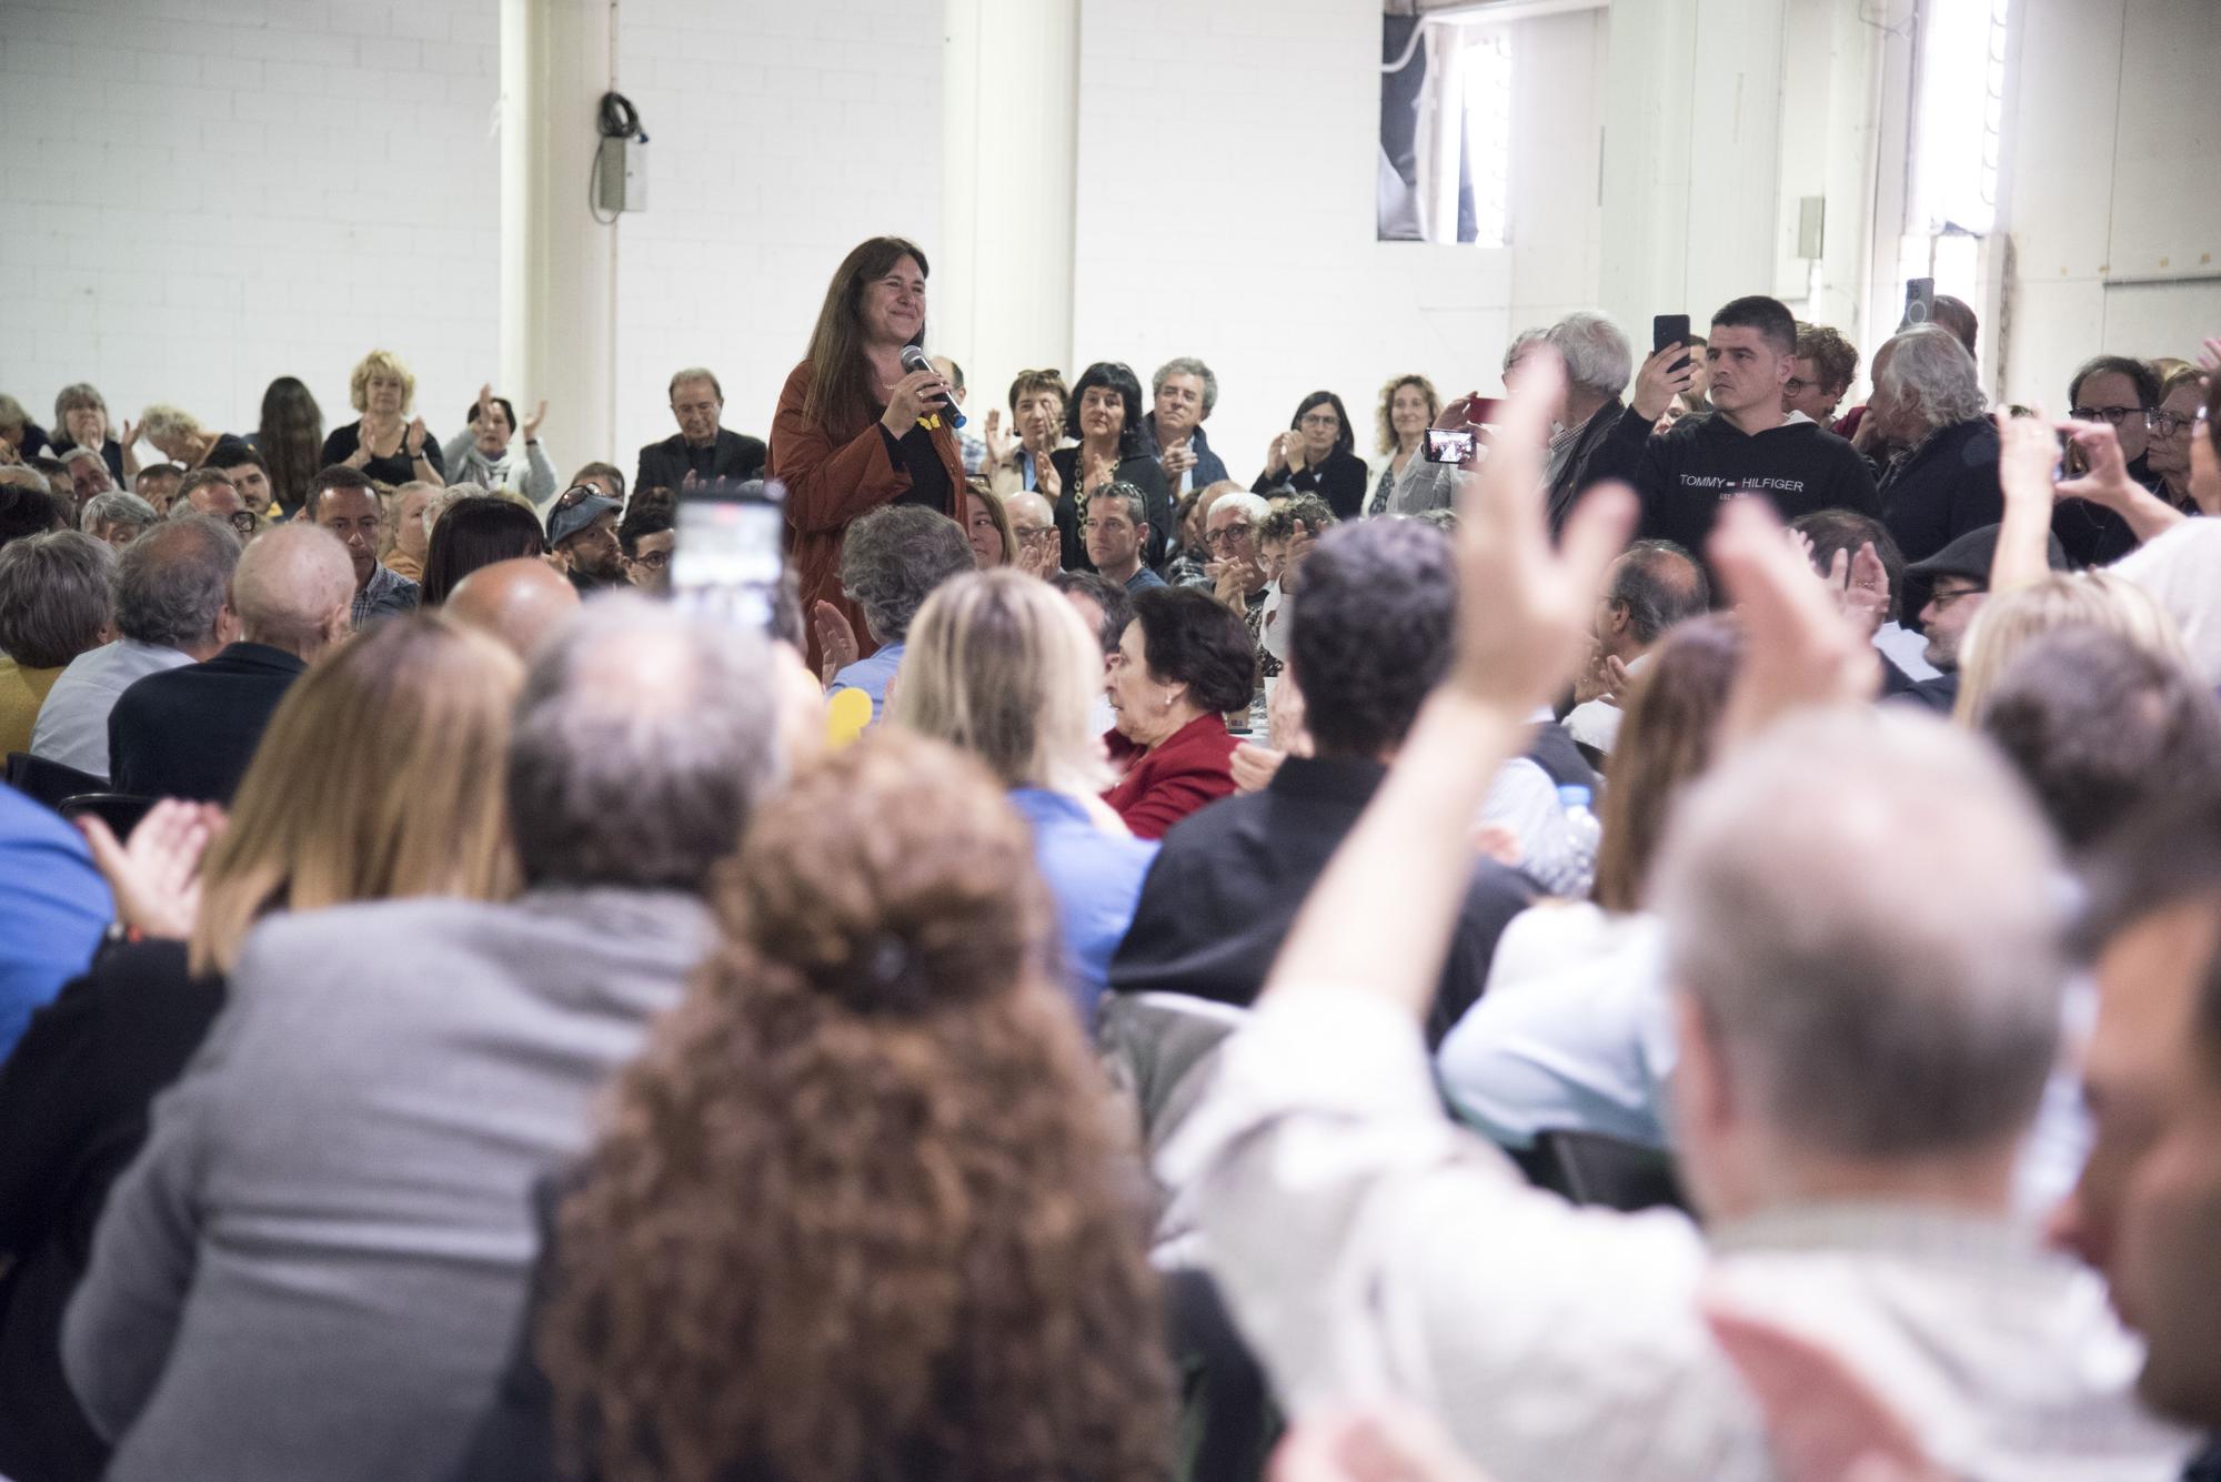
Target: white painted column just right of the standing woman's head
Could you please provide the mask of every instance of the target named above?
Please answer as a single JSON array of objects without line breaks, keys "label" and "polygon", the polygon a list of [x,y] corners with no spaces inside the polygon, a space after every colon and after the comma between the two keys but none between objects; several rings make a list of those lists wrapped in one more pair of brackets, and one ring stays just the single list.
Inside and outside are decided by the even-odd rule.
[{"label": "white painted column just right of the standing woman's head", "polygon": [[977,430],[1019,370],[1073,370],[1079,0],[944,4],[928,344],[964,366]]}]

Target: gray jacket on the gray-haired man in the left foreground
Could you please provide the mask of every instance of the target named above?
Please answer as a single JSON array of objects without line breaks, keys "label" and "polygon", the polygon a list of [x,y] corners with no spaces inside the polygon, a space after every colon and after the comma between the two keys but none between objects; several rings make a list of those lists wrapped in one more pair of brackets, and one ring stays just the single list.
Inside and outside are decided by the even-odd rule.
[{"label": "gray jacket on the gray-haired man in the left foreground", "polygon": [[258,927],[69,1305],[109,1478],[444,1478],[524,1305],[531,1182],[713,938],[697,899],[620,890]]}]

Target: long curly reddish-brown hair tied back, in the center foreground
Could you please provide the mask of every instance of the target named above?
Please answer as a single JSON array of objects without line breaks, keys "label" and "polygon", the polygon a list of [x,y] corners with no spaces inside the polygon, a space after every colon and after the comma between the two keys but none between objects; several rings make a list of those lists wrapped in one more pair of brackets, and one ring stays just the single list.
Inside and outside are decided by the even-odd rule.
[{"label": "long curly reddish-brown hair tied back, in the center foreground", "polygon": [[615,1087],[537,1351],[609,1482],[1168,1475],[1146,1216],[1024,823],[884,730],[757,812]]}]

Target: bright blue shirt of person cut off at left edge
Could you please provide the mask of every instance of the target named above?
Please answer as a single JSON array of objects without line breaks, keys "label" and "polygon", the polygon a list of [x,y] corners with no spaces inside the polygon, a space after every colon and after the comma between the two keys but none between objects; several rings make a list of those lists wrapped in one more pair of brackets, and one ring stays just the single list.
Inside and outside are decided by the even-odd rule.
[{"label": "bright blue shirt of person cut off at left edge", "polygon": [[0,1058],[31,1014],[91,965],[113,918],[109,883],[78,830],[0,788]]}]

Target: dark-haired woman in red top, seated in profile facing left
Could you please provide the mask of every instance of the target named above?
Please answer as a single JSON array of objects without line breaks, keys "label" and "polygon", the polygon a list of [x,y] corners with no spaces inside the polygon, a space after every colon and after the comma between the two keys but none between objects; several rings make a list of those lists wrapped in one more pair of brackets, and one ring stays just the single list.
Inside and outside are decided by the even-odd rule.
[{"label": "dark-haired woman in red top, seated in profile facing left", "polygon": [[1164,839],[1235,790],[1228,710],[1248,710],[1257,652],[1242,619],[1193,588],[1135,595],[1110,654],[1110,761],[1126,774],[1104,801],[1135,839]]}]

